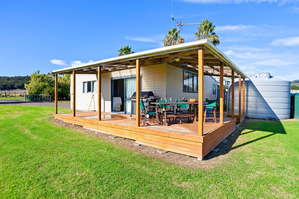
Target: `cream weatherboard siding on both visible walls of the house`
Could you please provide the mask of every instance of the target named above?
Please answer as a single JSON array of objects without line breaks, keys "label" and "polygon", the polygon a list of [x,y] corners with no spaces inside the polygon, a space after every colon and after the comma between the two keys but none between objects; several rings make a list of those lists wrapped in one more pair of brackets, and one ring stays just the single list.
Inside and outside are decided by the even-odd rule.
[{"label": "cream weatherboard siding on both visible walls of the house", "polygon": [[[182,68],[171,65],[153,65],[141,67],[141,90],[152,91],[155,96],[172,98],[172,102],[187,96],[198,100],[198,93],[183,92],[183,70]],[[192,71],[190,71],[192,72]],[[126,75],[136,75],[136,68],[105,72],[102,74],[102,112],[111,112],[111,78]],[[76,110],[87,111],[91,96],[94,95],[94,100],[91,102],[89,110],[97,111],[97,92],[83,93],[83,82],[97,80],[97,75],[76,75]],[[71,75],[71,85],[73,78]],[[204,99],[214,100],[216,95],[213,94],[213,84],[216,81],[211,76],[204,76]],[[71,88],[72,93],[72,88]],[[71,94],[72,107],[72,94]]]}]

